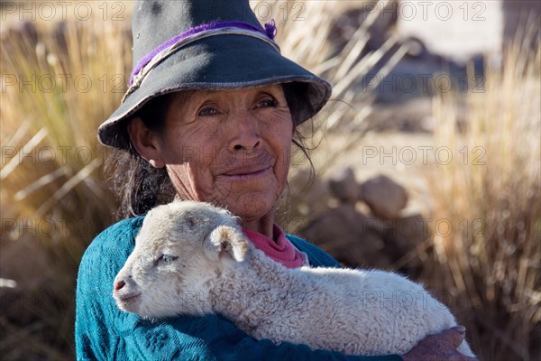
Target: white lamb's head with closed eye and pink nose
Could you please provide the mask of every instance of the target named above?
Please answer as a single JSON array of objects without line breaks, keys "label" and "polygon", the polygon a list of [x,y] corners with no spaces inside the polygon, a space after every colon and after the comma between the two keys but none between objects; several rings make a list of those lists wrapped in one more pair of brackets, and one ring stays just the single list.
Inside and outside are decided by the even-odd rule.
[{"label": "white lamb's head with closed eye and pink nose", "polygon": [[192,201],[153,208],[116,275],[116,304],[149,319],[211,313],[213,280],[224,267],[242,262],[248,248],[225,209]]}]

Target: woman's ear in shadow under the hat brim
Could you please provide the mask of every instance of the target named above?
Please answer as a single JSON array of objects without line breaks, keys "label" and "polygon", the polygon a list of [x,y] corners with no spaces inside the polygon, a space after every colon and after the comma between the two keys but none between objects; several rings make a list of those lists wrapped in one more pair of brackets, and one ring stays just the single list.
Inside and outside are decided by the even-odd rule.
[{"label": "woman's ear in shadow under the hat brim", "polygon": [[157,134],[144,125],[139,116],[133,117],[128,123],[128,134],[133,148],[144,160],[151,163],[154,168],[165,167]]}]

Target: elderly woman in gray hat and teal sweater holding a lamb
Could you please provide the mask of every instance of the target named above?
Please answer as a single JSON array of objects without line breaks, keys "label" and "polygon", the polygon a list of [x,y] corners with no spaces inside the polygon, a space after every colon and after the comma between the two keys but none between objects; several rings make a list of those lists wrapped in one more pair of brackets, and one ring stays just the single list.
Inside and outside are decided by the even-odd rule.
[{"label": "elderly woman in gray hat and teal sweater holding a lamb", "polygon": [[[78,274],[78,359],[394,360],[258,341],[219,315],[139,319],[115,306],[115,274],[142,216],[173,199],[207,201],[238,216],[266,255],[287,267],[339,264],[274,224],[296,126],[325,105],[329,84],[283,58],[248,1],[142,1],[133,14],[134,64],[123,104],[99,140],[115,147],[123,221],[96,237]],[[134,218],[128,218],[138,216]],[[189,257],[189,255],[186,255]],[[463,328],[430,336],[403,359],[468,359]]]}]

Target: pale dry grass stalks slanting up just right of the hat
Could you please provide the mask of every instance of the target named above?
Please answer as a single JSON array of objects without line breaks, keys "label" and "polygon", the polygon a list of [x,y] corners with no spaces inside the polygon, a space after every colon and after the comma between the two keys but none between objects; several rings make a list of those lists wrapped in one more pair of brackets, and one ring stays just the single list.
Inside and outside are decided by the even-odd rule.
[{"label": "pale dry grass stalks slanting up just right of the hat", "polygon": [[[275,14],[274,19],[278,26],[277,42],[282,54],[333,85],[333,96],[329,103],[313,123],[307,122],[301,131],[310,135],[310,143],[307,145],[312,147],[321,142],[326,132],[339,131],[345,134],[343,148],[332,151],[335,156],[351,149],[368,131],[364,120],[371,114],[372,90],[379,84],[373,81],[370,86],[361,86],[359,80],[373,72],[376,65],[381,69],[374,79],[383,79],[408,51],[408,45],[400,45],[398,38],[394,36],[380,49],[368,49],[371,27],[381,18],[381,13],[392,1],[374,3],[354,3],[353,7],[364,9],[370,8],[367,7],[368,4],[373,5],[374,10],[367,12],[361,26],[341,48],[337,48],[334,42],[336,24],[340,22],[340,17],[344,16],[344,11],[352,7],[352,3],[276,2],[271,11],[271,14]],[[326,173],[332,163],[333,158],[319,164],[318,173]]]}]

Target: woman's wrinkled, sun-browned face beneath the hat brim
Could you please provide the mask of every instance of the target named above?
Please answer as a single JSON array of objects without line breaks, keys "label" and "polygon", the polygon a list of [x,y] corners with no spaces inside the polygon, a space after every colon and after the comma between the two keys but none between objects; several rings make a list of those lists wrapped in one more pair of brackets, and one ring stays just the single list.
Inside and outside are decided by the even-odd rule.
[{"label": "woman's wrinkled, sun-browned face beneath the hat brim", "polygon": [[280,85],[173,97],[157,137],[181,199],[245,220],[273,211],[286,185],[293,120]]}]

